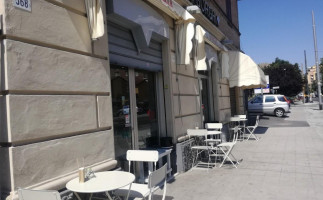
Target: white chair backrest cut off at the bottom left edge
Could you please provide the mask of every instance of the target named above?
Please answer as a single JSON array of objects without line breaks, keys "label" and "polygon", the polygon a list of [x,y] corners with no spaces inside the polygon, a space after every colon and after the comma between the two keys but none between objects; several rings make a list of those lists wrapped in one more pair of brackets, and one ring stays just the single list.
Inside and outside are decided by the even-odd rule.
[{"label": "white chair backrest cut off at the bottom left edge", "polygon": [[61,200],[61,195],[55,190],[18,189],[19,200]]}]

